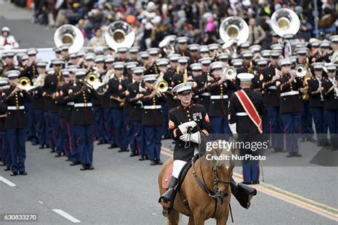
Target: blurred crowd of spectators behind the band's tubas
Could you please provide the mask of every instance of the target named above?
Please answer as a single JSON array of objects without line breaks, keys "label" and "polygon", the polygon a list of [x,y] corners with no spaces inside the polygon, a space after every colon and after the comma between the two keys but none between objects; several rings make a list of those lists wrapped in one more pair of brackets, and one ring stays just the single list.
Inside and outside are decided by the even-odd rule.
[{"label": "blurred crowd of spectators behind the band's tubas", "polygon": [[[280,8],[290,8],[301,21],[298,38],[305,41],[337,32],[338,4],[334,0],[317,0],[319,29],[315,29],[314,0],[36,0],[34,21],[48,26],[71,23],[90,40],[100,38],[102,28],[123,20],[135,29],[141,48],[158,47],[164,36],[187,36],[192,43],[209,44],[219,38],[218,27],[227,16],[240,16],[250,24],[250,41],[269,48],[270,16]],[[326,18],[324,20],[324,18]],[[98,29],[101,28],[101,31]],[[255,40],[252,38],[255,37]],[[150,43],[145,39],[150,38]],[[91,43],[100,43],[92,41]]]}]

